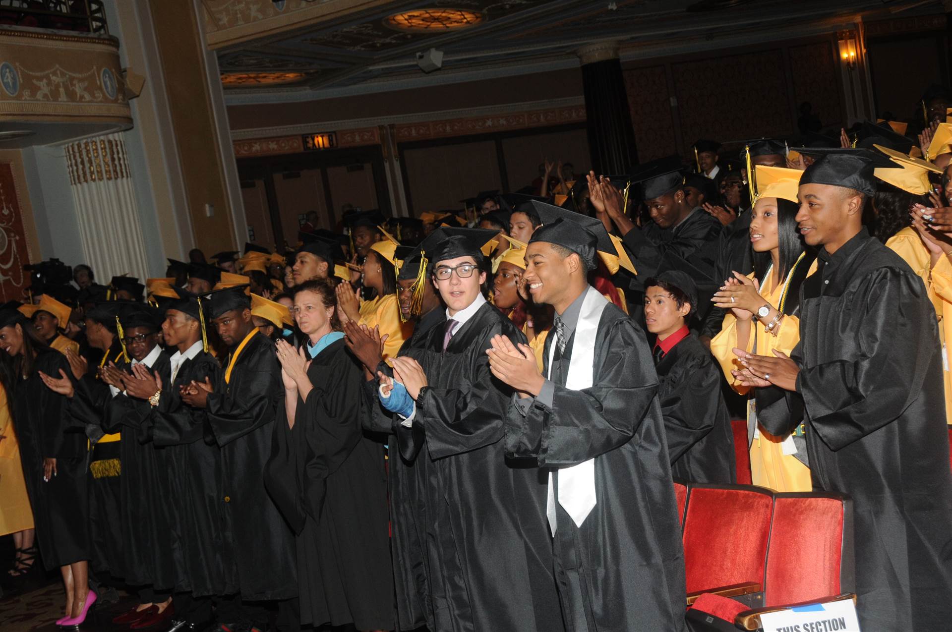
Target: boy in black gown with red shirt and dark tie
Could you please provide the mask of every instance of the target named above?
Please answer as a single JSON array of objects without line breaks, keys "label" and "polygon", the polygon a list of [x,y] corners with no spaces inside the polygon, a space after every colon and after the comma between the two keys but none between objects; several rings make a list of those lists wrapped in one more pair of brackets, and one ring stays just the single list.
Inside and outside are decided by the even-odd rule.
[{"label": "boy in black gown with red shirt and dark tie", "polygon": [[695,483],[737,483],[721,369],[687,328],[697,300],[694,281],[681,270],[645,281],[645,327],[657,336],[651,355],[671,475]]}]

